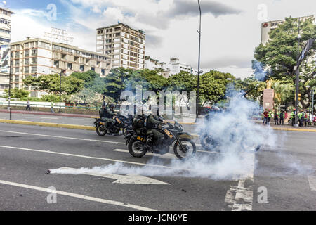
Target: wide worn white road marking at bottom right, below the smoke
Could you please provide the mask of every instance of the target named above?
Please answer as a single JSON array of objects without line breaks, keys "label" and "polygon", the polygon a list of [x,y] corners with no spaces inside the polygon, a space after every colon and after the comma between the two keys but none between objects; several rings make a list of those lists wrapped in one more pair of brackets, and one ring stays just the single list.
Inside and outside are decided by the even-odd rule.
[{"label": "wide worn white road marking at bottom right, below the smoke", "polygon": [[[249,160],[251,160],[249,174],[242,175],[238,186],[230,186],[230,190],[227,191],[225,196],[225,207],[232,211],[252,210],[255,153],[247,153],[245,157],[249,157]],[[245,186],[246,181],[250,183],[249,186]]]}]

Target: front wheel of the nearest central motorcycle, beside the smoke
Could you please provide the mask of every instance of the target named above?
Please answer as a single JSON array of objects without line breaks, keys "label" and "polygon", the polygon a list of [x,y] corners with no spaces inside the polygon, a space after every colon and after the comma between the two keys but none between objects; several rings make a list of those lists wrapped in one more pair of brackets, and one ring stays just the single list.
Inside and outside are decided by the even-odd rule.
[{"label": "front wheel of the nearest central motorcycle, beside the smoke", "polygon": [[181,144],[184,149],[181,149],[178,141],[173,146],[173,152],[180,160],[188,160],[195,156],[197,152],[197,147],[195,146],[194,141],[191,139],[180,139]]}]

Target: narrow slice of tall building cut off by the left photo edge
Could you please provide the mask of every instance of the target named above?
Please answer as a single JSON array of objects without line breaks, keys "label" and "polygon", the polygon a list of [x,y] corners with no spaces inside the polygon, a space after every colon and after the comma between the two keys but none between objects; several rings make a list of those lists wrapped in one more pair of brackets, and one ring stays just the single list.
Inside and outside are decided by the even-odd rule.
[{"label": "narrow slice of tall building cut off by the left photo edge", "polygon": [[0,7],[0,90],[8,89],[9,86],[12,14],[8,8]]}]

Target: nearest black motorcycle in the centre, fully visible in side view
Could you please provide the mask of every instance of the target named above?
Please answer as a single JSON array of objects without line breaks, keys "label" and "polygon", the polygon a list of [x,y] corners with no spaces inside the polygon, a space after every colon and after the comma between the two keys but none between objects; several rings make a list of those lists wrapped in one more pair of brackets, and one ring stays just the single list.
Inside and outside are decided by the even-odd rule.
[{"label": "nearest black motorcycle in the centre, fully visible in side view", "polygon": [[164,134],[164,142],[158,146],[156,141],[152,141],[152,137],[146,136],[146,131],[143,131],[142,135],[136,134],[135,131],[130,133],[126,136],[129,153],[136,158],[143,157],[147,152],[164,155],[169,153],[170,146],[173,146],[173,152],[180,160],[187,160],[195,156],[196,147],[192,136],[183,132],[181,124],[178,122],[166,123],[166,125],[159,126],[159,131]]}]

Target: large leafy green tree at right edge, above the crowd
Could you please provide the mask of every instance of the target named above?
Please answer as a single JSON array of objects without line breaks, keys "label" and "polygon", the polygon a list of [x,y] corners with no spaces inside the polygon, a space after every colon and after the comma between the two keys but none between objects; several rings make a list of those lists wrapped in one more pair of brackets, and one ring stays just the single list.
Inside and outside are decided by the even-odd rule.
[{"label": "large leafy green tree at right edge, above the crowd", "polygon": [[[316,37],[316,25],[314,25],[312,18],[301,21],[301,53],[306,42],[310,38]],[[265,70],[270,71],[270,77],[275,80],[291,82],[295,84],[296,76],[294,75],[294,66],[296,66],[296,59],[298,56],[298,18],[285,18],[285,22],[269,34],[270,41],[267,44],[260,44],[255,49],[254,58],[263,63]],[[299,77],[299,90],[301,93],[301,105],[307,108],[310,100],[310,88],[307,88],[308,83],[315,79],[315,50],[316,43],[312,49],[307,53],[307,60],[304,65],[301,65],[301,76]],[[292,99],[294,101],[294,98]]]}]

